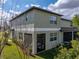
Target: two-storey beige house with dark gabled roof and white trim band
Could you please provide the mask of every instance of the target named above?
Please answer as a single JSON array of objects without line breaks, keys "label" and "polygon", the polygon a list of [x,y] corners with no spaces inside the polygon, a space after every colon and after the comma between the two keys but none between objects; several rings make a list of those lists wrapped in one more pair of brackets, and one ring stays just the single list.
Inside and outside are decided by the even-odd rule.
[{"label": "two-storey beige house with dark gabled roof and white trim band", "polygon": [[54,48],[74,38],[76,31],[76,28],[71,26],[71,21],[62,19],[61,16],[31,7],[10,21],[14,30],[12,36],[23,40],[26,47],[30,44],[33,54]]}]

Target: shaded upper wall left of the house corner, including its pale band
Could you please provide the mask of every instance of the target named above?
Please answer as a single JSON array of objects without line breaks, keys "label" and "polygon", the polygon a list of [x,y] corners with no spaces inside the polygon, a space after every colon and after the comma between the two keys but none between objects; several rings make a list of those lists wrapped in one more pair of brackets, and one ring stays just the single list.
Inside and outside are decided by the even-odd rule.
[{"label": "shaded upper wall left of the house corner, including its pale band", "polygon": [[[14,29],[15,34],[17,34],[16,36],[18,36],[19,32],[30,33],[30,34],[33,33],[33,30],[34,30],[33,16],[34,16],[33,11],[30,11],[29,13],[25,13],[10,22],[11,28]],[[27,21],[26,21],[26,18],[27,18]]]}]

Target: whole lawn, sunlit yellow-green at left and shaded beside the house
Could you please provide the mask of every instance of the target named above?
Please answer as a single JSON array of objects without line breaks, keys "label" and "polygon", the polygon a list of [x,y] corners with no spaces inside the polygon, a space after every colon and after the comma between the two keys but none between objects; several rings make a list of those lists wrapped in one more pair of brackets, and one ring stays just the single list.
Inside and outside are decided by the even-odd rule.
[{"label": "whole lawn, sunlit yellow-green at left and shaded beside the house", "polygon": [[[26,59],[53,59],[53,57],[58,53],[57,49],[51,49],[46,52],[34,55],[26,56]],[[1,55],[2,59],[24,59],[25,56],[14,43],[11,46],[6,46]]]}]

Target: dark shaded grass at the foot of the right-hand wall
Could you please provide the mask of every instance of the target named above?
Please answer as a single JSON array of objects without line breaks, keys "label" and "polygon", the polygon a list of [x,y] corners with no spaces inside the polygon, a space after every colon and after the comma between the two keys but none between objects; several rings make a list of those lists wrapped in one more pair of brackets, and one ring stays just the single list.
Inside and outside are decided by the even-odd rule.
[{"label": "dark shaded grass at the foot of the right-hand wall", "polygon": [[57,56],[58,53],[59,53],[59,49],[56,47],[56,48],[47,50],[45,52],[39,53],[37,54],[37,56],[40,56],[44,59],[54,59],[54,57]]}]

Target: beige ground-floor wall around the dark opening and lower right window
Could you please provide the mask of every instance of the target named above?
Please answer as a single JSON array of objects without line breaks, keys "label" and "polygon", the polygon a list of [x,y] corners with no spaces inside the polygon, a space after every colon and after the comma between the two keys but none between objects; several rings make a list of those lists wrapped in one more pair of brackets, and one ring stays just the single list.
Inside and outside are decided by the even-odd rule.
[{"label": "beige ground-floor wall around the dark opening and lower right window", "polygon": [[[50,41],[50,33],[57,32],[57,40],[56,41]],[[63,42],[63,33],[59,31],[38,31],[34,32],[33,34],[33,54],[37,54],[37,34],[46,34],[46,39],[45,39],[45,50],[51,49],[56,47],[57,45],[61,44]]]}]

